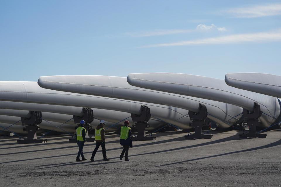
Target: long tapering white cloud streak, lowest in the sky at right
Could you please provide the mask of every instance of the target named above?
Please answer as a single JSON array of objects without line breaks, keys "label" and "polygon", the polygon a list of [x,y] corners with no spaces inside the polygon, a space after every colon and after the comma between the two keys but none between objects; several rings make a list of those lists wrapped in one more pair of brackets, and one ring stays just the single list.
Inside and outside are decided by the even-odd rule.
[{"label": "long tapering white cloud streak, lowest in the sky at right", "polygon": [[234,34],[234,35],[227,35],[222,37],[179,41],[175,43],[155,44],[149,46],[142,46],[141,48],[163,47],[163,46],[207,45],[207,44],[237,44],[242,42],[269,42],[269,41],[281,41],[281,30],[277,30],[275,32]]}]

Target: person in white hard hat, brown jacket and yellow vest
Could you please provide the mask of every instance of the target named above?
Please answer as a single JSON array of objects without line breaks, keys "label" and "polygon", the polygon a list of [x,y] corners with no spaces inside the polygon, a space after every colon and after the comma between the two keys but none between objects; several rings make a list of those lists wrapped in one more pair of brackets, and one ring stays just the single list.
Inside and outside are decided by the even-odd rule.
[{"label": "person in white hard hat, brown jacket and yellow vest", "polygon": [[94,157],[97,153],[97,150],[99,149],[100,146],[102,146],[102,156],[103,156],[103,161],[109,161],[109,159],[106,157],[105,154],[105,129],[104,129],[105,121],[100,120],[100,124],[97,126],[95,129],[95,141],[96,141],[96,148],[94,149],[91,157],[91,162],[94,161]]}]

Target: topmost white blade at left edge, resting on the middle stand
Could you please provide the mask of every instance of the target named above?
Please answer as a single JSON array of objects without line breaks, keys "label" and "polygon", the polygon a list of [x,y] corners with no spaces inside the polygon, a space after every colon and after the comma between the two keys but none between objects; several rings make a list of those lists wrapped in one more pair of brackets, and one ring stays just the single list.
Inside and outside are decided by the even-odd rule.
[{"label": "topmost white blade at left edge, resting on the middle stand", "polygon": [[188,111],[184,109],[43,89],[37,82],[2,81],[0,82],[0,100],[100,108],[136,114],[139,114],[141,105],[148,105],[155,119],[164,120],[183,129],[190,129],[188,125],[190,119],[186,117]]}]

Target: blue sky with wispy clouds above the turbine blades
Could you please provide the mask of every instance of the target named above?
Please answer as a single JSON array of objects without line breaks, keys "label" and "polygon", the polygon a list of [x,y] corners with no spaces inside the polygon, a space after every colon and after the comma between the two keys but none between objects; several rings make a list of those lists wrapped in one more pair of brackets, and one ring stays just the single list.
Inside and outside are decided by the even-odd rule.
[{"label": "blue sky with wispy clouds above the turbine blades", "polygon": [[1,80],[281,75],[281,1],[0,1]]}]

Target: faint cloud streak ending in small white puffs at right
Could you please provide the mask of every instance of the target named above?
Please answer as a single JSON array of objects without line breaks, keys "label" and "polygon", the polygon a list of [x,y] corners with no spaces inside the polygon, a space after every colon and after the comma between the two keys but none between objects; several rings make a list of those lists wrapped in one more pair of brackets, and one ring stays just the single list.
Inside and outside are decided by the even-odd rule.
[{"label": "faint cloud streak ending in small white puffs at right", "polygon": [[151,36],[162,36],[162,35],[169,35],[169,34],[183,34],[183,33],[190,33],[190,32],[198,32],[198,31],[227,31],[225,27],[217,27],[214,24],[208,26],[204,24],[197,25],[196,29],[175,29],[175,30],[156,30],[150,32],[126,32],[125,35],[131,37],[151,37]]}]

